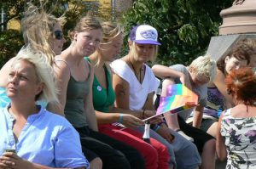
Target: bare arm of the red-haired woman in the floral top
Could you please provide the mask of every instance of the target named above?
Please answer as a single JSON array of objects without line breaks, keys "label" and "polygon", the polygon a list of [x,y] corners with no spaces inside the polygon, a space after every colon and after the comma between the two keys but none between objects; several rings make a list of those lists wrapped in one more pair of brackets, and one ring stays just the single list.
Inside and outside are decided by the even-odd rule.
[{"label": "bare arm of the red-haired woman in the floral top", "polygon": [[221,127],[221,121],[223,118],[223,113],[220,115],[218,119],[218,126],[217,126],[217,132],[216,132],[216,152],[218,155],[218,159],[220,161],[224,161],[227,158],[227,148],[224,144],[224,138],[220,134],[220,127]]}]

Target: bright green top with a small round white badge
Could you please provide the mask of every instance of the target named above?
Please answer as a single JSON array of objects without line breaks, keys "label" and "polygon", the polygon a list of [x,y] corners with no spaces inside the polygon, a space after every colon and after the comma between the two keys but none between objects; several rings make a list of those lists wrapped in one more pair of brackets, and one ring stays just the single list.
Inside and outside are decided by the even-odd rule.
[{"label": "bright green top with a small round white badge", "polygon": [[[88,57],[84,58],[90,62]],[[102,87],[94,75],[92,94],[93,94],[93,106],[97,111],[109,112],[109,106],[112,106],[115,100],[115,93],[113,91],[111,75],[106,65],[104,65],[105,76],[107,76],[107,89]]]}]

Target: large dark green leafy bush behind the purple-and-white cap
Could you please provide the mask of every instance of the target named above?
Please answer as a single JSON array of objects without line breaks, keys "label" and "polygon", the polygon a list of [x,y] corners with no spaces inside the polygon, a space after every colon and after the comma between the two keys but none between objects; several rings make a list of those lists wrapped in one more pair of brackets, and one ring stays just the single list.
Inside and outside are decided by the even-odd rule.
[{"label": "large dark green leafy bush behind the purple-and-white cap", "polygon": [[[161,42],[159,64],[188,65],[205,54],[211,37],[218,35],[219,13],[232,0],[137,0],[122,18],[125,31],[134,25],[154,26]],[[127,36],[126,36],[127,39]],[[125,41],[125,45],[127,45]]]}]

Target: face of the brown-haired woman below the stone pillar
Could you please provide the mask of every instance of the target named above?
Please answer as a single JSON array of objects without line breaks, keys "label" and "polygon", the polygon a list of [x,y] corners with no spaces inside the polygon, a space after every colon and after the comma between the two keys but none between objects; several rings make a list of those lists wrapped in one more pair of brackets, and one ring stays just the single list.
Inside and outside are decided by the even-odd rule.
[{"label": "face of the brown-haired woman below the stone pillar", "polygon": [[230,74],[231,70],[238,70],[239,68],[247,65],[247,59],[236,59],[233,56],[225,58],[225,71]]}]

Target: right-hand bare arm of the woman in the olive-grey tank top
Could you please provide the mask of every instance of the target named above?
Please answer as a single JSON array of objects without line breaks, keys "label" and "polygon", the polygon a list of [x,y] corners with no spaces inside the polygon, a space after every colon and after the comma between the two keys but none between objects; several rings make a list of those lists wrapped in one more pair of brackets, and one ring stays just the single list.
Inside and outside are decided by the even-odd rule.
[{"label": "right-hand bare arm of the woman in the olive-grey tank top", "polygon": [[90,129],[94,130],[94,131],[98,131],[98,125],[97,125],[97,121],[96,121],[96,112],[94,110],[93,107],[93,101],[92,101],[92,83],[93,83],[93,78],[94,78],[94,70],[93,67],[89,64],[89,62],[87,62],[86,60],[84,60],[85,65],[88,66],[88,68],[90,69],[90,86],[89,86],[89,93],[86,96],[86,98],[84,99],[84,110],[86,112],[86,119],[87,122],[89,124]]}]

